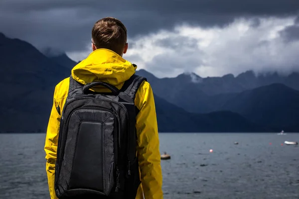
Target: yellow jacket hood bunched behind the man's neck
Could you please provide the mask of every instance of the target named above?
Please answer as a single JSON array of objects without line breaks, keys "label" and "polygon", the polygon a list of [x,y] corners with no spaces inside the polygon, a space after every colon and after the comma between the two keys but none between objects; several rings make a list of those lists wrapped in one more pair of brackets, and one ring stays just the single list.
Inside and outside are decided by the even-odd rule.
[{"label": "yellow jacket hood bunched behind the man's neck", "polygon": [[83,85],[101,81],[121,89],[136,68],[111,50],[97,49],[72,69],[72,77]]}]

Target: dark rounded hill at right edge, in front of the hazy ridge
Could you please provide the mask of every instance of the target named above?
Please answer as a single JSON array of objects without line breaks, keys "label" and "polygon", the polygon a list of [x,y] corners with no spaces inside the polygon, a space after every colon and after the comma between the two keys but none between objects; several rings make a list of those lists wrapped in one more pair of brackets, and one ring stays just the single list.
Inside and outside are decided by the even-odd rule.
[{"label": "dark rounded hill at right edge, in front of the hazy ridge", "polygon": [[222,108],[238,112],[253,122],[288,128],[299,122],[299,91],[272,84],[238,94]]}]

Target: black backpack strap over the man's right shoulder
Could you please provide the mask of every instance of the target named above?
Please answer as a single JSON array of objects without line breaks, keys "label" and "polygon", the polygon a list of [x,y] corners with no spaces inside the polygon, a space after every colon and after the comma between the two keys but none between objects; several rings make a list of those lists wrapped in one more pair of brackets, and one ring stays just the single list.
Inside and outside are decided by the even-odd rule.
[{"label": "black backpack strap over the man's right shoulder", "polygon": [[134,74],[125,82],[121,91],[126,93],[131,99],[135,100],[136,93],[144,81],[147,81],[147,79]]}]

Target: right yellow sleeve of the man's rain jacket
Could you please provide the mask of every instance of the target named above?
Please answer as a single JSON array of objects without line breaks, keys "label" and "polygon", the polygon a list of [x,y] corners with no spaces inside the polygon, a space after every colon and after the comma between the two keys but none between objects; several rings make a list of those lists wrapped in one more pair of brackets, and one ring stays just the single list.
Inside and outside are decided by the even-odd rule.
[{"label": "right yellow sleeve of the man's rain jacket", "polygon": [[[145,199],[163,199],[159,138],[153,93],[148,82],[139,91],[136,117],[138,160]],[[140,90],[139,89],[139,90]]]}]

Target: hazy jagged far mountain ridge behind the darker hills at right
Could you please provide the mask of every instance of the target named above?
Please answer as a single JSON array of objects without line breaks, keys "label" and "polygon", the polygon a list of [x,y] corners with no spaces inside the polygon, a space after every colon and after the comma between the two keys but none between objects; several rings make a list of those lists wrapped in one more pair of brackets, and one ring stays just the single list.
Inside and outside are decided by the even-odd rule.
[{"label": "hazy jagged far mountain ridge behind the darker hills at right", "polygon": [[148,78],[155,94],[189,112],[207,113],[219,108],[236,94],[261,86],[282,83],[299,90],[299,74],[280,76],[267,73],[256,76],[252,71],[223,77],[201,78],[194,73],[181,74],[175,78],[156,78],[141,69],[137,71]]}]

